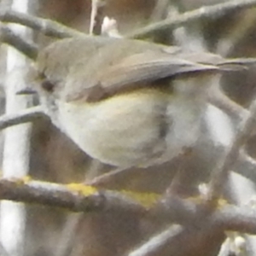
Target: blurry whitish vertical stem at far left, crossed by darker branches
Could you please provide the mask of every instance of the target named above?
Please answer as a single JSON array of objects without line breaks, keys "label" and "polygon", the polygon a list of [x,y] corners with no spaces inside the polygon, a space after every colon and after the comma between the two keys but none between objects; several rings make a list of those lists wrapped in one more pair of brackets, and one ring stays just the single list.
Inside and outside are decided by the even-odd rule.
[{"label": "blurry whitish vertical stem at far left, crossed by darker branches", "polygon": [[[11,9],[28,13],[28,0],[14,0]],[[11,26],[20,36],[28,37],[27,29]],[[24,78],[27,69],[26,57],[9,48],[6,58],[7,79],[5,82],[6,113],[17,113],[32,105],[31,96],[17,96],[17,90],[26,87]],[[4,132],[3,177],[23,177],[29,171],[30,137],[32,125],[18,125]],[[22,204],[10,201],[1,203],[0,235],[3,248],[9,255],[24,255],[26,212]]]}]

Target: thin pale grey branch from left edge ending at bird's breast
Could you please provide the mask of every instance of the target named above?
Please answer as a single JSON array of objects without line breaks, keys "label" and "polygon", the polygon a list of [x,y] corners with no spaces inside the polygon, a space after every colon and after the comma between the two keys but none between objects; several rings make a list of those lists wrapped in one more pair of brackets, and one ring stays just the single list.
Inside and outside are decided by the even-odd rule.
[{"label": "thin pale grey branch from left edge ending at bird's breast", "polygon": [[41,106],[26,108],[19,113],[4,114],[0,117],[0,131],[13,125],[32,122],[38,118],[46,118],[47,115]]}]

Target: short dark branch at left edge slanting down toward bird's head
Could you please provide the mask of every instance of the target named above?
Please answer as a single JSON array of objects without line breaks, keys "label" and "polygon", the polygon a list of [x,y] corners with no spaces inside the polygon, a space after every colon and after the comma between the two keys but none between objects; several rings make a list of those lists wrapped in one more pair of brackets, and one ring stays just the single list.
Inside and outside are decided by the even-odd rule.
[{"label": "short dark branch at left edge slanting down toward bird's head", "polygon": [[36,44],[21,38],[7,26],[0,26],[0,41],[13,46],[32,60],[35,60],[38,55]]}]

